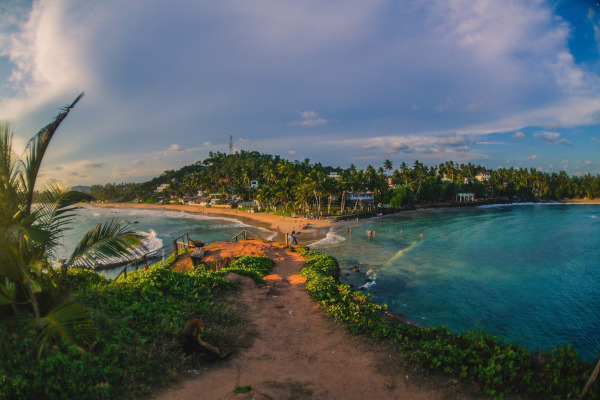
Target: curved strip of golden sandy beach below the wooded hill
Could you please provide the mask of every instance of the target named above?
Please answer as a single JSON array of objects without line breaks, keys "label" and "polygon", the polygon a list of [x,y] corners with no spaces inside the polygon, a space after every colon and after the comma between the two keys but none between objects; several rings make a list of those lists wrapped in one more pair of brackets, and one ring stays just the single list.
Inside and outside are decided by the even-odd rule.
[{"label": "curved strip of golden sandy beach below the wooded hill", "polygon": [[211,215],[213,217],[235,218],[245,224],[265,228],[276,233],[273,240],[285,241],[286,233],[300,232],[298,242],[309,245],[327,236],[332,226],[336,224],[329,219],[290,218],[264,212],[249,213],[231,208],[204,207],[200,205],[178,204],[133,204],[133,203],[93,203],[95,207],[106,208],[139,208],[144,210],[179,211],[191,214]]}]

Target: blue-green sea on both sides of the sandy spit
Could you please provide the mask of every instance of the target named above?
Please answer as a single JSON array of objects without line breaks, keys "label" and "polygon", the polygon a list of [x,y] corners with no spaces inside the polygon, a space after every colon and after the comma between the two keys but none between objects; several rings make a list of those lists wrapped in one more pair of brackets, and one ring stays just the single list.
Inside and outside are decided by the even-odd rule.
[{"label": "blue-green sea on both sides of the sandy spit", "polygon": [[[145,232],[155,248],[185,232],[205,243],[231,240],[244,228],[274,237],[235,219],[84,207],[64,238],[64,256],[95,223],[113,217]],[[338,260],[344,283],[423,325],[481,327],[530,350],[571,344],[589,361],[600,352],[598,204],[407,211],[336,225],[311,248]]]}]

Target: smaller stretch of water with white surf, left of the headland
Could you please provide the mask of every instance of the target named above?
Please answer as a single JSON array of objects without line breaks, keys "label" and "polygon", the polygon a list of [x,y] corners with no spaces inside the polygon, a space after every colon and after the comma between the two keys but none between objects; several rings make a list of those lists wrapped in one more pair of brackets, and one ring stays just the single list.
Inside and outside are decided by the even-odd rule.
[{"label": "smaller stretch of water with white surf, left of the headland", "polygon": [[[146,235],[144,244],[149,251],[157,250],[164,245],[170,245],[178,236],[189,233],[190,239],[201,240],[210,244],[220,240],[231,240],[242,229],[248,229],[250,236],[270,239],[273,232],[266,229],[255,228],[232,218],[215,218],[213,216],[188,214],[177,211],[158,211],[127,208],[100,208],[84,206],[77,211],[77,216],[71,229],[66,231],[62,240],[63,245],[58,248],[56,258],[67,258],[77,241],[100,221],[116,218],[121,222],[128,222],[130,228]],[[165,252],[172,251],[170,245]],[[102,271],[108,277],[114,277],[119,268]]]}]

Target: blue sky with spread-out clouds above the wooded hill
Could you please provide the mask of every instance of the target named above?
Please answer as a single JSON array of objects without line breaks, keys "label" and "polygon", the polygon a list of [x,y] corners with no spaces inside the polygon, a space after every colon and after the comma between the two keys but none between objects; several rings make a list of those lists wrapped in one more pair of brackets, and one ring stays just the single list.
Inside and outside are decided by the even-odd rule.
[{"label": "blue sky with spread-out clouds above the wooded hill", "polygon": [[[599,0],[600,1],[600,0]],[[0,0],[22,151],[85,92],[39,182],[143,182],[259,151],[600,173],[593,0]]]}]

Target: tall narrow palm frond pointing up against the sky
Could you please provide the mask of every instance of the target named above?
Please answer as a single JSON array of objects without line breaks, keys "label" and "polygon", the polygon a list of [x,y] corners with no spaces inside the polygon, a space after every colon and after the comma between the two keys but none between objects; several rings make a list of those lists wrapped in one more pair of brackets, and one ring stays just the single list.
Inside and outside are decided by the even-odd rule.
[{"label": "tall narrow palm frond pointing up against the sky", "polygon": [[69,112],[75,107],[75,104],[83,97],[83,93],[80,93],[79,96],[68,106],[65,106],[60,113],[54,118],[52,122],[43,127],[38,133],[32,137],[27,143],[27,150],[29,153],[27,154],[27,161],[25,163],[25,195],[26,195],[26,205],[28,208],[31,207],[31,203],[33,201],[33,189],[35,187],[35,181],[37,180],[37,175],[40,170],[40,166],[42,165],[42,159],[44,158],[44,154],[46,153],[46,149],[50,144],[50,140],[54,136],[56,129],[58,129],[61,122],[69,115]]}]

